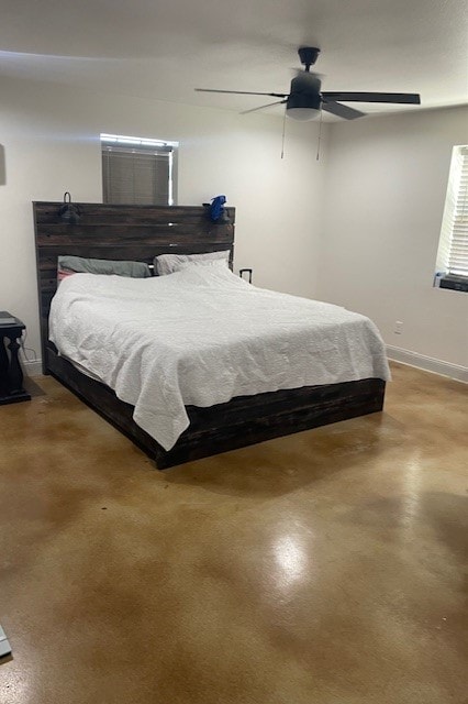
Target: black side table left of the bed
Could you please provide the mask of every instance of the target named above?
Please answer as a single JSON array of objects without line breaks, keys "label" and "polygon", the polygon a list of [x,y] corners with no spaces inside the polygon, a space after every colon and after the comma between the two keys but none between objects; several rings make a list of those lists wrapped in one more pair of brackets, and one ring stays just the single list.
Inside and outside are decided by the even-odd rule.
[{"label": "black side table left of the bed", "polygon": [[[2,323],[2,317],[14,318],[14,322]],[[23,388],[23,372],[18,358],[18,340],[25,327],[24,322],[9,312],[0,312],[0,405],[31,399]]]}]

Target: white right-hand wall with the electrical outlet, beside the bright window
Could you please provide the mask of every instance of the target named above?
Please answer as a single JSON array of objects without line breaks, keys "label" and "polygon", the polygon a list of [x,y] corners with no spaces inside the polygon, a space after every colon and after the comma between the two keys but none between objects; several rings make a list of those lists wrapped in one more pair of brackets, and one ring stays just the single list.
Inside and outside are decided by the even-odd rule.
[{"label": "white right-hand wall with the electrical outlet, beside the bright window", "polygon": [[468,295],[433,276],[452,148],[467,142],[467,108],[331,125],[317,288],[388,344],[464,366]]}]

